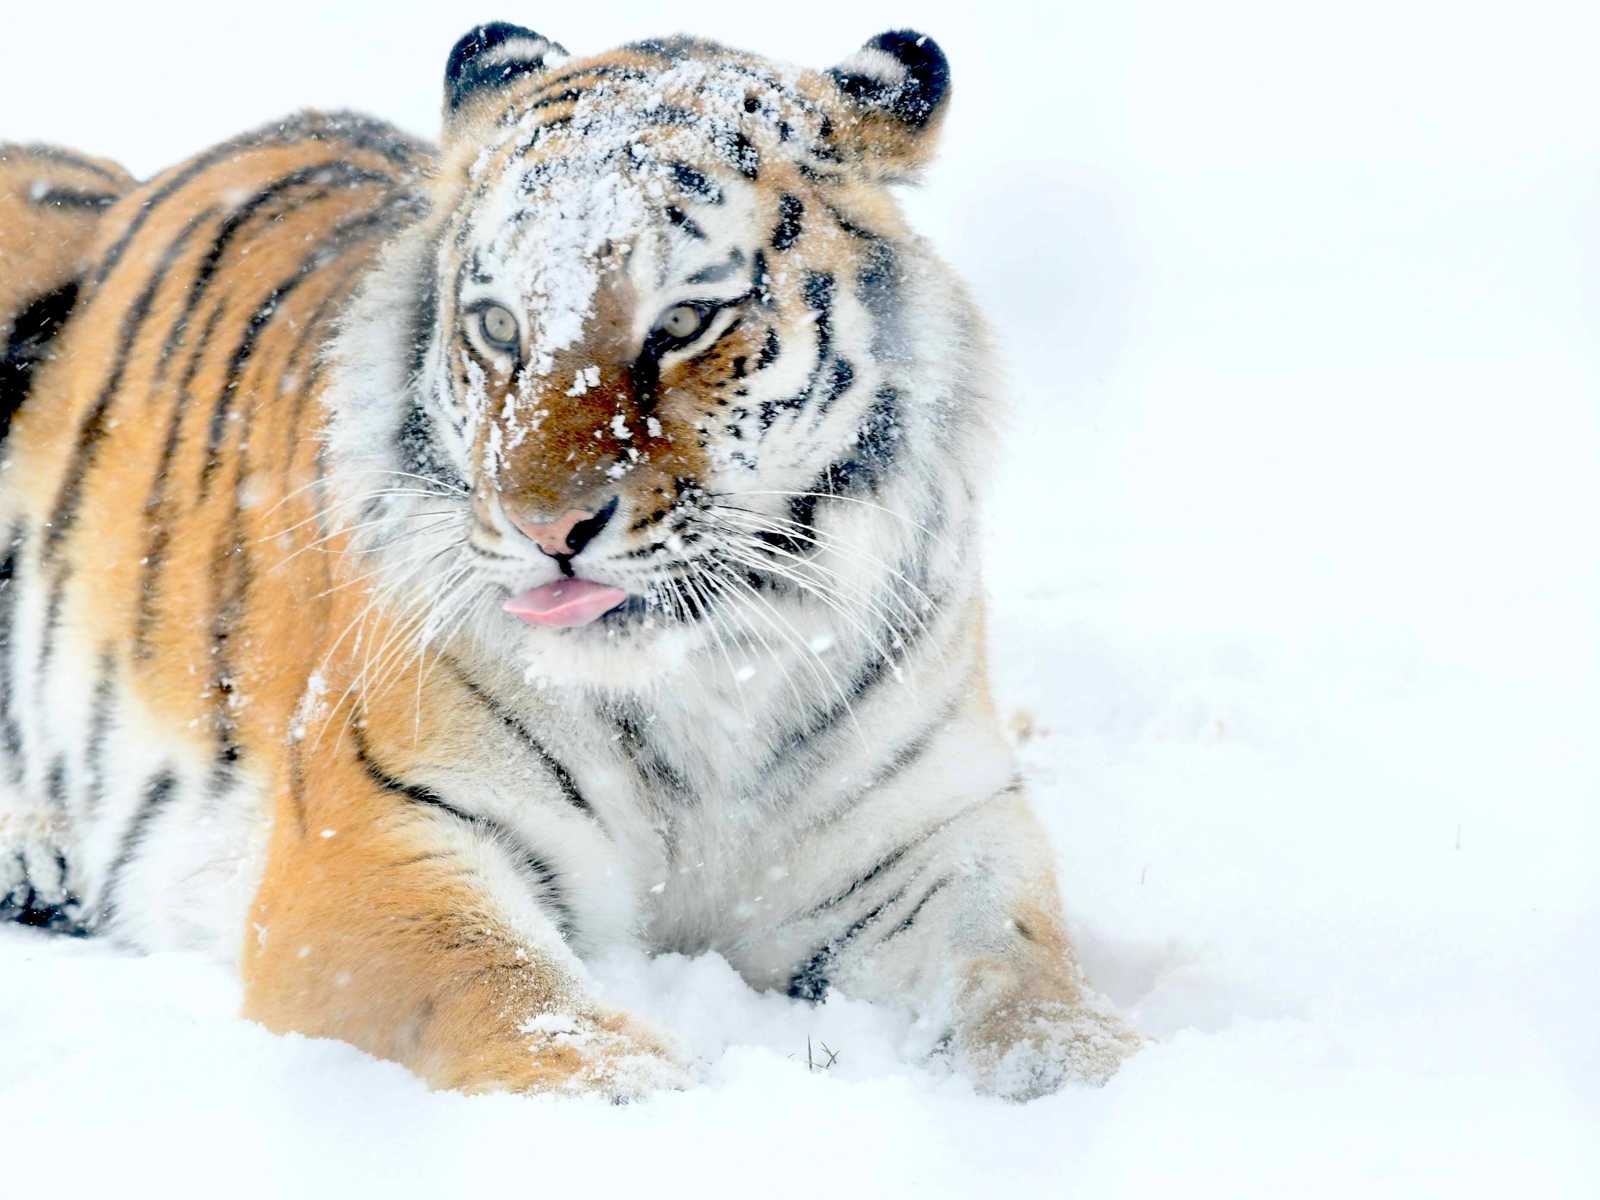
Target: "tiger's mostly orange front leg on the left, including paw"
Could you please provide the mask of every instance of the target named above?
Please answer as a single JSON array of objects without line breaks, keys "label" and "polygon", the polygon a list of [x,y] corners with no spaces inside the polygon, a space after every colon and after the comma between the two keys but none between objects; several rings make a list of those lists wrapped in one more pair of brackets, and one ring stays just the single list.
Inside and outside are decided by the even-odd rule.
[{"label": "tiger's mostly orange front leg on the left, including paw", "polygon": [[650,1032],[590,997],[563,914],[506,845],[339,766],[280,800],[245,931],[245,1016],[440,1088],[626,1099],[682,1085]]}]

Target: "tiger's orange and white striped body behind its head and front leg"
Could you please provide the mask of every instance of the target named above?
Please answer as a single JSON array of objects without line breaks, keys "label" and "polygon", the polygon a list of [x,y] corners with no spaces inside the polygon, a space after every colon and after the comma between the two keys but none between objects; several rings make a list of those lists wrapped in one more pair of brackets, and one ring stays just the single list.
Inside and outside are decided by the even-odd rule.
[{"label": "tiger's orange and white striped body behind its head and front leg", "polygon": [[[429,163],[386,125],[306,114],[136,189],[122,176],[45,214],[75,218],[75,238],[35,230],[8,254],[8,298],[67,298],[0,480],[13,909],[118,918],[146,944],[237,941],[261,798],[347,602],[306,552],[318,355],[376,248],[424,211]],[[195,904],[125,902],[171,880]],[[171,920],[187,928],[139,928]]]}]

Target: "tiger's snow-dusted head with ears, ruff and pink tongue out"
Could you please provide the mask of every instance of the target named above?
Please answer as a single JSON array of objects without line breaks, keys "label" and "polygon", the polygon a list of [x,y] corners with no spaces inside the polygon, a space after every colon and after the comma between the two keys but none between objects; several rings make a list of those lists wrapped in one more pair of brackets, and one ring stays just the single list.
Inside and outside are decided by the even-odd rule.
[{"label": "tiger's snow-dusted head with ears, ruff and pink tongue out", "polygon": [[979,322],[888,190],[947,96],[912,32],[832,70],[461,38],[430,216],[331,355],[330,477],[429,637],[634,686],[922,619],[987,429]]}]

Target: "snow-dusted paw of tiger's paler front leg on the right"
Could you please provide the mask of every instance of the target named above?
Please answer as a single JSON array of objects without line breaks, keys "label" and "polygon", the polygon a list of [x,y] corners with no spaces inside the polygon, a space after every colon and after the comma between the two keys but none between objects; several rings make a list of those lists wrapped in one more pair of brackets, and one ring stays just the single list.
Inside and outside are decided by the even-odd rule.
[{"label": "snow-dusted paw of tiger's paler front leg on the right", "polygon": [[1000,1006],[955,1050],[982,1091],[1027,1101],[1072,1083],[1099,1086],[1141,1045],[1109,1006],[1085,997]]}]

